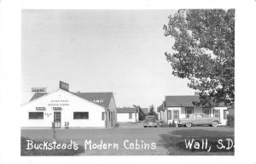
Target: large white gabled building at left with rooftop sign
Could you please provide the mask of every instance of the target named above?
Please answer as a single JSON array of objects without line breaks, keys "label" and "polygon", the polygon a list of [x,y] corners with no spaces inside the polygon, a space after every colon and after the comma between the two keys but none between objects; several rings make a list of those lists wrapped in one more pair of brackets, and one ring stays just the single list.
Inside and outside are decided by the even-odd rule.
[{"label": "large white gabled building at left with rooftop sign", "polygon": [[69,85],[50,93],[34,93],[21,105],[23,128],[114,127],[117,121],[113,93],[73,93]]}]

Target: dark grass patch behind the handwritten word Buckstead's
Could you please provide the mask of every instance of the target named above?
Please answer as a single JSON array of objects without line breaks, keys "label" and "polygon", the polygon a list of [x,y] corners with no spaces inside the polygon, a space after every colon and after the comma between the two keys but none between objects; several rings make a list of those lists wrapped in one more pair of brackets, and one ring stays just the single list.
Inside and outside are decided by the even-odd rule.
[{"label": "dark grass patch behind the handwritten word Buckstead's", "polygon": [[[65,149],[65,150],[62,150],[62,149],[59,149],[59,150],[58,149],[55,149],[55,150],[37,150],[37,149],[26,150],[26,146],[27,146],[26,140],[32,140],[32,139],[21,137],[20,156],[77,156],[81,153],[84,153],[84,147],[81,145],[78,146],[79,147],[78,150],[74,150],[74,149],[71,149],[71,150],[68,150],[68,149]],[[43,144],[44,143],[42,141],[35,141],[35,140],[32,140],[32,141],[33,141],[33,144]],[[61,142],[58,142],[58,143],[65,144],[65,143],[61,143]]]}]

